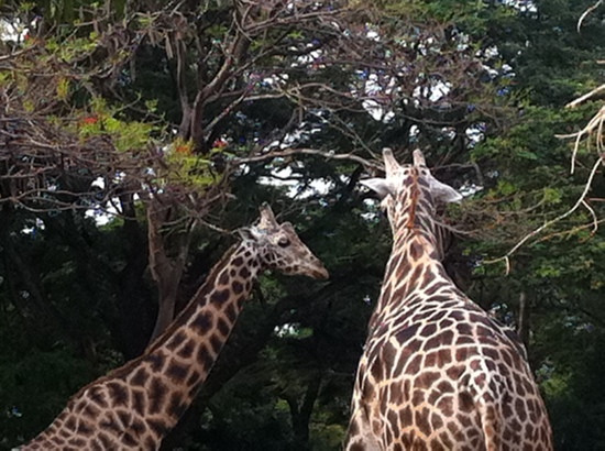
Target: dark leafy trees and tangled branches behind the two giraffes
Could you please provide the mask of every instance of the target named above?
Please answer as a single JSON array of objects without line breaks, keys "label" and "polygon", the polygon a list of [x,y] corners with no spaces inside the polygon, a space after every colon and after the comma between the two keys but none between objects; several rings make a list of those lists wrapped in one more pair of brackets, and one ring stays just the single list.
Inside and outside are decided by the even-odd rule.
[{"label": "dark leafy trees and tangled branches behind the two giraffes", "polygon": [[556,136],[602,108],[565,108],[603,84],[593,3],[0,1],[0,448],[139,355],[266,200],[331,278],[260,280],[164,449],[339,449],[384,146],[465,195],[448,271],[526,342],[558,448],[605,448],[603,138]]}]

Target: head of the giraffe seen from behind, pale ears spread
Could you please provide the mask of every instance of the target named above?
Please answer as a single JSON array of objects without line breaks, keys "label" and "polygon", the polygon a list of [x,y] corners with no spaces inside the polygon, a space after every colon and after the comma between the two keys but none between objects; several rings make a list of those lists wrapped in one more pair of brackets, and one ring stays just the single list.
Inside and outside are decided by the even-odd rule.
[{"label": "head of the giraffe seen from behind, pale ears spread", "polygon": [[391,148],[383,150],[385,163],[384,178],[362,180],[370,189],[376,191],[382,199],[381,206],[393,221],[399,208],[416,207],[420,199],[428,200],[431,208],[437,204],[458,202],[462,199],[460,193],[451,186],[439,182],[432,176],[419,150],[414,151],[413,164],[400,165],[393,156]]}]

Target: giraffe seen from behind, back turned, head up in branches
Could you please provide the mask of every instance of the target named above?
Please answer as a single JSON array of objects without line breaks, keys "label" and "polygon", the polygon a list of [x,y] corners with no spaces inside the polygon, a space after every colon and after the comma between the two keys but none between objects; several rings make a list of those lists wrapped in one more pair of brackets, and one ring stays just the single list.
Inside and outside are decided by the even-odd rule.
[{"label": "giraffe seen from behind, back turned, head up in branches", "polygon": [[450,279],[436,210],[461,200],[420,151],[386,177],[364,180],[382,197],[393,232],[381,296],[358,366],[344,448],[361,450],[552,450],[544,404],[516,334]]}]

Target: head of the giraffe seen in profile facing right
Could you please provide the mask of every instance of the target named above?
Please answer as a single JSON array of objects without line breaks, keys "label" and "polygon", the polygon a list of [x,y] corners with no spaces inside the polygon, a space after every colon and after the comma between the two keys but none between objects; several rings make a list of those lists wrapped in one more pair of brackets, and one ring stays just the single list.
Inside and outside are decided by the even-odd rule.
[{"label": "head of the giraffe seen in profile facing right", "polygon": [[264,267],[284,274],[328,278],[323,263],[300,241],[289,222],[277,223],[266,202],[258,210],[258,223],[238,229],[238,233],[248,245],[256,249]]}]

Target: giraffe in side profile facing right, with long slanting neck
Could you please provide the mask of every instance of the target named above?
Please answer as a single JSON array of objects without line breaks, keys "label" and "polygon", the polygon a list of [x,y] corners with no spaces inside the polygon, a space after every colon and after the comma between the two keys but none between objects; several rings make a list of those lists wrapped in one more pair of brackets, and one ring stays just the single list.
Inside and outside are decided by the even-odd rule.
[{"label": "giraffe in side profile facing right, with long slanting neck", "polygon": [[323,264],[268,205],[143,355],[82,387],[21,450],[157,450],[189,407],[265,270],[327,278]]}]

